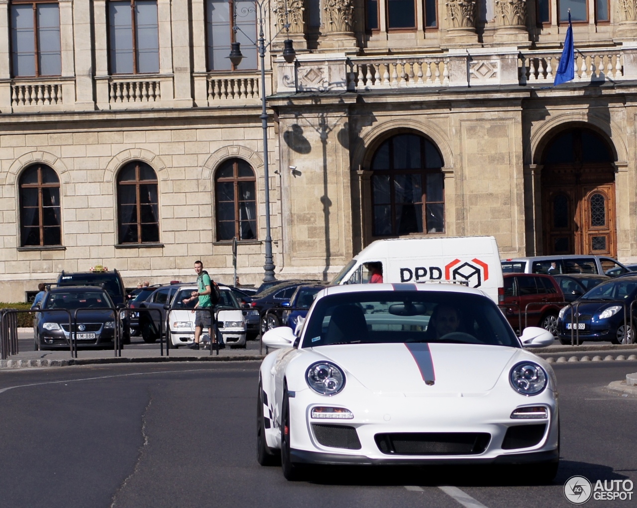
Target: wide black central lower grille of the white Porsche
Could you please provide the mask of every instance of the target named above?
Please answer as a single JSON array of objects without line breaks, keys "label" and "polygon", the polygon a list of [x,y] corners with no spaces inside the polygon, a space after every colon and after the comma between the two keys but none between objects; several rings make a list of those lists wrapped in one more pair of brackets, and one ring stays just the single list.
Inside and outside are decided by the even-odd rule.
[{"label": "wide black central lower grille of the white Porsche", "polygon": [[388,455],[476,455],[487,449],[486,432],[413,432],[376,434],[376,444]]}]

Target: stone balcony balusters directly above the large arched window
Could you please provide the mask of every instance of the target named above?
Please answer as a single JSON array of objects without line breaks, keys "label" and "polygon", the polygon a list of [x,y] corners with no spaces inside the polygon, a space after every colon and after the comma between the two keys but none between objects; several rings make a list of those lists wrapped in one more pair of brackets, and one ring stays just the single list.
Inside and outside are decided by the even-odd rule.
[{"label": "stone balcony balusters directly above the large arched window", "polygon": [[349,65],[348,90],[352,91],[449,86],[450,61],[443,55],[408,59],[352,57]]}]

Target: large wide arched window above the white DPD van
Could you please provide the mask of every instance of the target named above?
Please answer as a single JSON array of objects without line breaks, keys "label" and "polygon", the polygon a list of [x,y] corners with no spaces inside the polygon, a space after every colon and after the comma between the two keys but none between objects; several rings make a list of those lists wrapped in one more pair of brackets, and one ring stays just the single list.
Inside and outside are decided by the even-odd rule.
[{"label": "large wide arched window above the white DPD van", "polygon": [[373,235],[445,232],[442,157],[431,141],[399,134],[371,162]]}]

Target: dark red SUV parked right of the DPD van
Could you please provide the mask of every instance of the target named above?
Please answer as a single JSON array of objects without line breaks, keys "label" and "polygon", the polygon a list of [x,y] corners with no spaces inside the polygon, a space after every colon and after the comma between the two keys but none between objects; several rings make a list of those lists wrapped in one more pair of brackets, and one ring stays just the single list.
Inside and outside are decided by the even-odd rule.
[{"label": "dark red SUV parked right of the DPD van", "polygon": [[505,273],[504,278],[505,294],[500,308],[513,330],[520,334],[526,323],[555,335],[557,314],[564,306],[564,295],[557,281],[550,275],[530,273]]}]

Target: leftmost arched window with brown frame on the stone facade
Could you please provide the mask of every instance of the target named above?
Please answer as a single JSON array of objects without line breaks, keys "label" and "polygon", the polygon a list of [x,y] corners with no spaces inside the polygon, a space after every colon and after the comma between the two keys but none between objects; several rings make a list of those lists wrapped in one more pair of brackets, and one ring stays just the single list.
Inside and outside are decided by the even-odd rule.
[{"label": "leftmost arched window with brown frame on the stone facade", "polygon": [[30,166],[20,176],[20,244],[62,244],[60,180],[44,164]]}]

